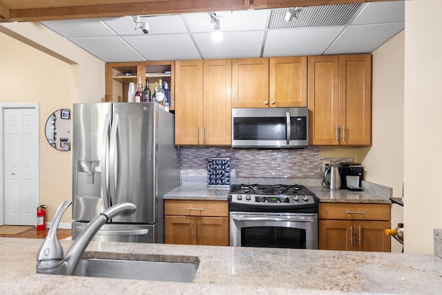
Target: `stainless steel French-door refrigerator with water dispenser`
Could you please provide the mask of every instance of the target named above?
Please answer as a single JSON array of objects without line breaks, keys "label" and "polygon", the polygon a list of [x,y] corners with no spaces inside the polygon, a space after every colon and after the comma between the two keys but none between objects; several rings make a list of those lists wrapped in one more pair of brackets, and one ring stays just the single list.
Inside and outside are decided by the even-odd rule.
[{"label": "stainless steel French-door refrigerator with water dispenser", "polygon": [[174,116],[155,103],[74,104],[73,222],[88,222],[119,202],[137,206],[113,218],[94,240],[164,242],[163,195],[180,185]]}]

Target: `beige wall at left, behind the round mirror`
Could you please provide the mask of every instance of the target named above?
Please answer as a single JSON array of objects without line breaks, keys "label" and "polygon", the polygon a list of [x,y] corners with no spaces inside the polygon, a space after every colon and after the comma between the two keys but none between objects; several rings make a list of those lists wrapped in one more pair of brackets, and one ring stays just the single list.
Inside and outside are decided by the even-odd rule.
[{"label": "beige wall at left, behind the round mirror", "polygon": [[[72,153],[48,144],[46,120],[73,103],[104,100],[104,62],[39,23],[0,24],[0,44],[0,104],[39,104],[39,203],[48,206],[50,222],[72,198]],[[70,220],[68,209],[61,222]]]}]

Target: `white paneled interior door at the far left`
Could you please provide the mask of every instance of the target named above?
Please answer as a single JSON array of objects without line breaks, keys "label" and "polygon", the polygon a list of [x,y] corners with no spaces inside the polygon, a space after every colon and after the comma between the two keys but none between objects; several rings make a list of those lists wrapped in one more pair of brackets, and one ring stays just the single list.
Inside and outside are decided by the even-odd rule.
[{"label": "white paneled interior door at the far left", "polygon": [[4,108],[5,224],[35,225],[39,145],[36,108]]}]

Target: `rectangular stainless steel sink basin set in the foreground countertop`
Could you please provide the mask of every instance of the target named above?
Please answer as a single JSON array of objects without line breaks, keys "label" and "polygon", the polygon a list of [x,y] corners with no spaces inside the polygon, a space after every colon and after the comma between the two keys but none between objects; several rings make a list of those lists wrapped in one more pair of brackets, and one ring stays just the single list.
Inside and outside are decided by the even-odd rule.
[{"label": "rectangular stainless steel sink basin set in the foreground countertop", "polygon": [[[133,259],[136,260],[133,260]],[[193,256],[147,256],[128,259],[82,258],[74,276],[193,282],[200,260]]]}]

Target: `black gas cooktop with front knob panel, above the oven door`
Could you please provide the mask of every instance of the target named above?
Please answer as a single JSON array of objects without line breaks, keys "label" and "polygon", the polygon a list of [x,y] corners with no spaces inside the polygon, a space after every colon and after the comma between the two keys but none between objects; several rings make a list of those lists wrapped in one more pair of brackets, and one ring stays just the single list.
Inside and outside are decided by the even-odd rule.
[{"label": "black gas cooktop with front knob panel, above the oven door", "polygon": [[232,184],[229,211],[318,212],[319,199],[307,187],[294,184]]}]

